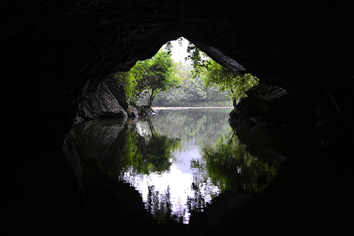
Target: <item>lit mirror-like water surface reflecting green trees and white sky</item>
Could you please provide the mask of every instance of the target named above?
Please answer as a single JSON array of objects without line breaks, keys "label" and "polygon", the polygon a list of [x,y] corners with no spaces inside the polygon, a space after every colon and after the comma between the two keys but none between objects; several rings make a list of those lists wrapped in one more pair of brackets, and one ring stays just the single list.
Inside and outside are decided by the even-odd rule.
[{"label": "lit mirror-like water surface reflecting green trees and white sky", "polygon": [[160,110],[150,118],[81,122],[68,139],[80,168],[95,160],[109,179],[135,187],[157,223],[188,224],[220,193],[257,195],[285,160],[252,155],[230,127],[229,112]]}]

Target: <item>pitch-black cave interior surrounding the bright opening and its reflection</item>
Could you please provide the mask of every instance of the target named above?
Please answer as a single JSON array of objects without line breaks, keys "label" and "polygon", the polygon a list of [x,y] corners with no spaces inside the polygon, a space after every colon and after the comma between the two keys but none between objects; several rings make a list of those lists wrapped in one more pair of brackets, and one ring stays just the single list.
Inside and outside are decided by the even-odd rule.
[{"label": "pitch-black cave interior surrounding the bright opening and its reflection", "polygon": [[[294,207],[289,212],[293,217],[286,219],[318,217],[310,224],[307,216],[308,224],[299,223],[296,232],[349,234],[354,230],[351,9],[350,3],[335,1],[5,3],[1,31],[5,230],[92,230],[97,219],[80,221],[86,214],[85,201],[62,153],[82,99],[109,76],[128,71],[137,60],[151,58],[167,41],[183,36],[223,66],[285,89],[303,111],[312,112],[315,122],[309,125],[318,131],[322,149],[319,157],[309,160],[312,169],[303,172],[309,183],[319,182],[323,189],[311,196],[303,196],[301,190],[294,195],[311,199],[303,209],[318,212]],[[291,178],[301,179],[303,172],[291,173]],[[104,210],[107,219],[97,223],[97,232],[123,230],[115,215]],[[254,211],[249,218],[257,215]],[[292,234],[294,229],[286,223],[275,219],[259,232]]]}]

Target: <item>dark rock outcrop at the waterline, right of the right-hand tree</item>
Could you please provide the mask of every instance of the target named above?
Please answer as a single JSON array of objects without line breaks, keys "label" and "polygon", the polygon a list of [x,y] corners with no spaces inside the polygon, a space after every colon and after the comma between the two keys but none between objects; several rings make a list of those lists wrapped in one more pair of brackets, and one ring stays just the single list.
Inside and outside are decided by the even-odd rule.
[{"label": "dark rock outcrop at the waterline, right of the right-hand tree", "polygon": [[[265,84],[253,86],[230,113],[230,122],[241,121],[250,125],[301,126],[313,124],[313,112],[306,111],[295,96],[284,89]],[[305,114],[306,113],[306,114]]]}]

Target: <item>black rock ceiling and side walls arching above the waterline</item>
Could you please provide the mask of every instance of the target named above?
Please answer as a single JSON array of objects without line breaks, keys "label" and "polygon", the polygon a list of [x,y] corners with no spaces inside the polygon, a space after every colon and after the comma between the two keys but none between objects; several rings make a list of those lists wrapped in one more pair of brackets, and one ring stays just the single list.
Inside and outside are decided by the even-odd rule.
[{"label": "black rock ceiling and side walls arching above the waterline", "polygon": [[353,17],[343,3],[40,1],[3,11],[6,133],[41,129],[36,138],[62,146],[85,94],[179,36],[298,96],[317,109],[319,125],[349,119]]}]

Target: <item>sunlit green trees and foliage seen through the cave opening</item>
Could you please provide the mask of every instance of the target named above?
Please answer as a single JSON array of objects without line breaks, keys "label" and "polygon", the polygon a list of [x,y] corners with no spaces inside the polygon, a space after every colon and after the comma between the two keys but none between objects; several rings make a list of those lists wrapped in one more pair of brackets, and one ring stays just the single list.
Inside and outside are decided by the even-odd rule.
[{"label": "sunlit green trees and foliage seen through the cave opening", "polygon": [[258,84],[252,74],[221,66],[190,42],[185,59],[191,64],[174,62],[171,48],[169,42],[154,57],[116,74],[130,105],[235,107],[245,91]]}]

